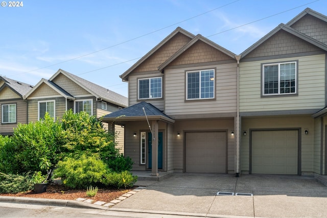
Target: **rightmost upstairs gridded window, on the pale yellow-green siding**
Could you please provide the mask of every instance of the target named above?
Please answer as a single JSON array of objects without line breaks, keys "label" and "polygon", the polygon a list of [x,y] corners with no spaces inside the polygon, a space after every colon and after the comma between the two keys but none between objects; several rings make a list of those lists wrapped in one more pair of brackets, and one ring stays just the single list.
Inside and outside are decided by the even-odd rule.
[{"label": "rightmost upstairs gridded window, on the pale yellow-green siding", "polygon": [[263,65],[263,95],[296,93],[296,62]]}]

